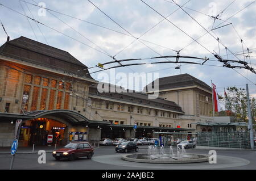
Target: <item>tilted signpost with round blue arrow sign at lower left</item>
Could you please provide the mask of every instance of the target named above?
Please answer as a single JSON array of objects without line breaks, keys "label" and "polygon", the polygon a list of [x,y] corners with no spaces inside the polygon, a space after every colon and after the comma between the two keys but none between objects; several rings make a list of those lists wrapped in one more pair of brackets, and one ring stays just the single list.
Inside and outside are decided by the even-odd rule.
[{"label": "tilted signpost with round blue arrow sign at lower left", "polygon": [[16,120],[15,139],[13,141],[13,144],[11,144],[11,155],[13,155],[13,157],[11,158],[10,170],[13,169],[13,162],[14,162],[15,154],[18,149],[18,143],[19,143],[18,140],[19,140],[21,125],[22,125],[22,120],[21,119]]}]

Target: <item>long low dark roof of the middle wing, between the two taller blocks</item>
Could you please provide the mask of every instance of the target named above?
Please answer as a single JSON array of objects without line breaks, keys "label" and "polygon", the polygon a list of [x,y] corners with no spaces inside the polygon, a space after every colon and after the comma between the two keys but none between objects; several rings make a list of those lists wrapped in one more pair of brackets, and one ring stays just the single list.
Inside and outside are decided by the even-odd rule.
[{"label": "long low dark roof of the middle wing, between the two taller blocks", "polygon": [[[107,83],[108,84],[108,83]],[[115,86],[115,85],[110,85]],[[118,87],[118,86],[117,86]],[[115,88],[115,87],[114,87]],[[125,90],[125,89],[122,89]],[[184,113],[180,106],[178,106],[175,102],[165,100],[163,98],[156,99],[148,99],[148,95],[142,92],[135,92],[134,90],[126,90],[127,92],[98,92],[97,85],[90,85],[89,95],[100,96],[101,98],[110,98],[115,100],[121,100],[130,102],[131,104],[137,103],[143,106],[151,106],[155,108],[176,111],[180,113]],[[130,92],[129,92],[130,91]]]}]

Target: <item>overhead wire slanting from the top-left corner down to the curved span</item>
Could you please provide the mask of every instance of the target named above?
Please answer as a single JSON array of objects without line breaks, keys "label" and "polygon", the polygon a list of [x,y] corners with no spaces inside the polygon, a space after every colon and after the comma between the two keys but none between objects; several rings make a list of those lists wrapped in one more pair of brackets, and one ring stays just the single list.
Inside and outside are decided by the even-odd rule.
[{"label": "overhead wire slanting from the top-left corner down to the curved span", "polygon": [[94,49],[94,50],[96,50],[96,51],[98,51],[98,52],[100,52],[100,53],[102,53],[102,54],[105,54],[106,56],[109,57],[108,54],[102,52],[101,50],[98,50],[98,49],[96,49],[96,48],[94,48],[94,47],[92,47],[92,46],[90,46],[90,45],[88,45],[88,44],[85,44],[85,43],[83,43],[82,41],[75,39],[74,37],[71,37],[71,36],[69,36],[69,35],[66,35],[65,33],[60,32],[59,30],[56,30],[55,28],[49,27],[49,26],[47,26],[46,24],[43,24],[43,23],[39,22],[39,21],[36,20],[36,19],[30,18],[29,16],[26,16],[26,15],[24,15],[24,14],[22,14],[22,13],[16,11],[16,10],[14,10],[14,9],[11,9],[10,7],[5,6],[5,5],[3,5],[3,4],[1,4],[1,3],[0,3],[0,6],[6,7],[7,9],[16,12],[16,13],[18,13],[19,15],[22,15],[22,16],[28,18],[28,19],[31,19],[31,20],[33,20],[33,21],[39,23],[39,24],[42,24],[43,26],[45,26],[45,27],[47,27],[47,28],[49,28],[49,29],[51,29],[51,30],[53,30],[53,31],[56,31],[56,32],[60,33],[61,35],[67,36],[67,37],[69,37],[70,39],[75,40],[75,41],[77,41],[77,42],[79,42],[79,43],[85,45],[86,47],[89,47],[89,48],[91,48],[91,49]]}]

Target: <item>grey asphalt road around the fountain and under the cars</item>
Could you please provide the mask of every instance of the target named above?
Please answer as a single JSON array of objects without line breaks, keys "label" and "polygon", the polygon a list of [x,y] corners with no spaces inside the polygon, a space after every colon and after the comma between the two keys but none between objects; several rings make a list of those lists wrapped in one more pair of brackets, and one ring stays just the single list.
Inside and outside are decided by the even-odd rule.
[{"label": "grey asphalt road around the fountain and under the cars", "polygon": [[[168,151],[168,150],[166,150]],[[174,150],[175,151],[175,150]],[[138,153],[147,153],[147,149],[140,149]],[[198,154],[208,154],[208,150],[193,150],[187,149],[187,153],[198,153]],[[163,165],[158,164],[154,165],[150,163],[134,163],[122,161],[119,157],[123,153],[115,153],[114,146],[102,146],[94,150],[93,159],[78,158],[75,161],[68,161],[66,159],[61,159],[56,161],[55,158],[52,157],[51,153],[46,154],[46,163],[38,163],[38,158],[40,155],[38,154],[16,154],[13,169],[28,169],[28,170],[55,170],[55,169],[75,169],[75,170],[144,170],[144,169],[159,169]],[[109,155],[109,156],[108,156]],[[217,150],[217,158],[218,155],[228,156],[230,158],[243,158],[246,159],[247,162],[243,166],[232,166],[225,167],[220,169],[256,169],[256,151],[235,151],[235,150]],[[101,157],[98,157],[101,156]],[[115,157],[113,161],[110,159],[109,162],[101,161],[102,157]],[[0,153],[0,169],[9,169],[11,162],[10,154],[1,154]],[[97,159],[96,159],[97,158]],[[105,159],[108,160],[108,159]],[[218,161],[218,159],[217,159]],[[118,165],[118,163],[122,162],[122,164]],[[224,160],[225,162],[225,160]],[[143,164],[146,164],[143,166]],[[209,163],[191,163],[191,165],[184,165],[184,169],[198,169],[200,166],[204,169],[203,164]],[[183,165],[179,164],[177,169],[183,169]],[[219,163],[219,165],[224,165],[224,163]],[[175,169],[175,166],[172,165],[168,167],[164,165],[166,169]],[[213,167],[213,169],[218,169],[217,167]]]}]

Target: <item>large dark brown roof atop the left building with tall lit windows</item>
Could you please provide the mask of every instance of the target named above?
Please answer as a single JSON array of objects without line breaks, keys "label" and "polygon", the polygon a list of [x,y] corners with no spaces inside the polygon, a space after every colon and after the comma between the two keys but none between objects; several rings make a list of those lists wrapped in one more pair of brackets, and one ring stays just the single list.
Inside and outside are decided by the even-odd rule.
[{"label": "large dark brown roof atop the left building with tall lit windows", "polygon": [[93,79],[88,70],[77,71],[88,67],[68,52],[24,36],[6,41],[0,47],[0,55]]}]

